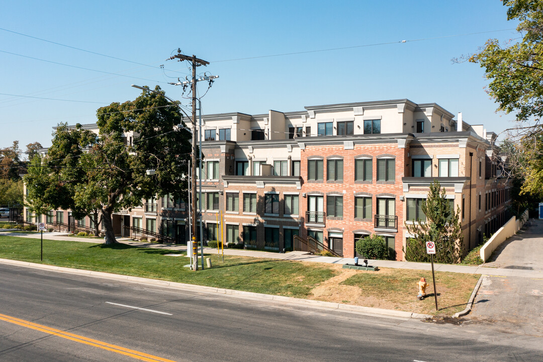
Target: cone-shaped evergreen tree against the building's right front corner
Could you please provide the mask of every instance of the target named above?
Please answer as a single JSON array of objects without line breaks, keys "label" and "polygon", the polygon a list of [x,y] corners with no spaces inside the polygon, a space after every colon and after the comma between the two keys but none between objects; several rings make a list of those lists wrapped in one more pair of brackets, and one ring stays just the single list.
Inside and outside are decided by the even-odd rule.
[{"label": "cone-shaped evergreen tree against the building's right front corner", "polygon": [[406,259],[412,262],[429,262],[426,254],[426,242],[435,244],[435,262],[459,263],[462,256],[462,230],[460,228],[460,208],[456,212],[445,198],[445,189],[439,181],[430,185],[428,197],[422,202],[422,212],[426,221],[409,225],[407,231],[414,237],[407,240]]}]

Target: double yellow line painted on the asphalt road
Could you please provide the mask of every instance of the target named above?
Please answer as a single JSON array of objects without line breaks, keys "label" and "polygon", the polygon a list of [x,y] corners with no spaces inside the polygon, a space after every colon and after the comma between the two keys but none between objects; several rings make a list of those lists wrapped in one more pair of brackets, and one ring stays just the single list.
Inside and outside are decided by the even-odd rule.
[{"label": "double yellow line painted on the asphalt road", "polygon": [[106,342],[98,341],[96,339],[86,338],[86,337],[78,335],[78,334],[73,334],[73,333],[70,333],[70,332],[61,331],[60,329],[55,329],[55,328],[39,325],[37,323],[29,322],[29,321],[26,321],[26,320],[23,320],[23,319],[18,319],[18,318],[15,318],[15,317],[11,317],[9,315],[0,314],[0,320],[6,321],[6,322],[9,322],[9,323],[13,323],[13,324],[18,325],[18,326],[34,329],[35,331],[40,331],[40,332],[43,332],[43,333],[55,335],[55,336],[58,336],[60,338],[69,339],[71,341],[75,341],[75,342],[82,343],[82,344],[85,344],[85,345],[102,348],[102,350],[111,351],[111,352],[115,352],[115,353],[119,353],[119,354],[124,354],[124,355],[127,355],[128,357],[136,358],[136,359],[139,359],[139,360],[142,360],[142,361],[148,361],[148,362],[157,362],[157,361],[160,361],[160,362],[175,362],[175,361],[172,361],[171,359],[166,359],[166,358],[162,358],[162,357],[157,357],[157,356],[152,355],[152,354],[147,354],[147,353],[143,353],[143,352],[129,350],[128,348],[112,345],[112,344],[109,344],[109,343],[106,343]]}]

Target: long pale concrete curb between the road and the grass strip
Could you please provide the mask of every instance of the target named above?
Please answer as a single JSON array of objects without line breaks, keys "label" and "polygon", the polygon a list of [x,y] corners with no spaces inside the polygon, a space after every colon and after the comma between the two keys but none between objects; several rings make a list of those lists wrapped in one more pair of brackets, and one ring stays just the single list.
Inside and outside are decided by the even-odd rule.
[{"label": "long pale concrete curb between the road and the grass strip", "polygon": [[[362,314],[362,315],[379,315],[379,316],[384,316],[384,317],[389,317],[389,318],[402,318],[402,319],[412,319],[412,318],[426,319],[428,317],[432,317],[431,315],[428,315],[428,314],[405,312],[403,310],[352,306],[350,304],[315,301],[315,300],[310,300],[310,299],[293,298],[293,297],[286,297],[286,296],[281,296],[281,295],[253,293],[251,291],[224,289],[224,288],[216,288],[216,287],[205,287],[204,285],[168,282],[168,281],[142,278],[142,277],[134,277],[134,276],[128,276],[128,275],[121,275],[121,274],[111,274],[111,273],[106,273],[106,272],[101,272],[101,271],[72,269],[72,268],[65,268],[64,266],[21,262],[21,261],[15,261],[11,259],[0,259],[0,264],[23,266],[23,267],[32,268],[32,269],[56,271],[56,272],[61,272],[61,273],[66,273],[66,274],[86,275],[86,276],[91,276],[95,278],[117,280],[117,281],[130,282],[130,283],[136,283],[136,284],[147,284],[153,287],[187,290],[187,291],[193,291],[193,292],[204,293],[204,294],[220,294],[224,296],[241,298],[241,299],[261,300],[261,301],[267,301],[267,302],[273,301],[276,305],[283,305],[283,306],[288,305],[288,306],[299,306],[299,307],[308,307],[308,308],[315,308],[315,309],[337,310],[339,312],[346,312],[346,313],[356,313],[356,314]],[[479,284],[480,284],[480,280],[479,280]],[[472,302],[472,298],[470,298],[470,302]]]}]

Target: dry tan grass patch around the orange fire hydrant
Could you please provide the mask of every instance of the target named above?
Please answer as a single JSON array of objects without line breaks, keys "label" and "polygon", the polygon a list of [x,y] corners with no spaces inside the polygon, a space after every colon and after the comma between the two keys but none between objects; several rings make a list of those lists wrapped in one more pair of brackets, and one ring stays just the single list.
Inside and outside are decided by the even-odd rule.
[{"label": "dry tan grass patch around the orange fire hydrant", "polygon": [[[432,315],[452,315],[463,310],[479,278],[472,274],[435,272],[439,307],[436,312],[430,271],[390,268],[363,271],[341,269],[339,265],[334,268],[339,274],[313,288],[312,299]],[[430,284],[423,301],[416,299],[416,282],[421,277]]]}]

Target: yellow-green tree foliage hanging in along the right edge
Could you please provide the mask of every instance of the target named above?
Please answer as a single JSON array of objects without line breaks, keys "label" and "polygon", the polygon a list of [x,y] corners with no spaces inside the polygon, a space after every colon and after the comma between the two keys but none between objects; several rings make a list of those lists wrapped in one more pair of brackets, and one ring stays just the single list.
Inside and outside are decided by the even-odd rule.
[{"label": "yellow-green tree foliage hanging in along the right edge", "polygon": [[[517,124],[508,130],[502,154],[510,176],[522,181],[521,194],[541,196],[543,189],[543,1],[503,0],[507,19],[519,21],[519,40],[487,41],[470,61],[484,68],[488,93],[497,110],[514,113]],[[527,182],[525,182],[527,181]]]}]

